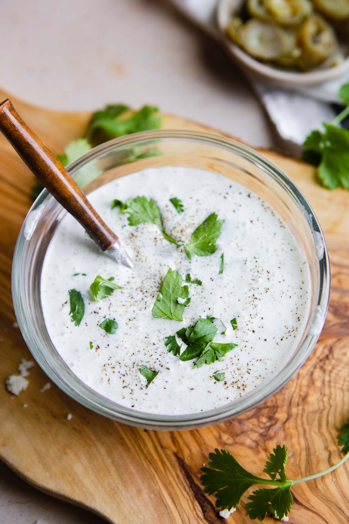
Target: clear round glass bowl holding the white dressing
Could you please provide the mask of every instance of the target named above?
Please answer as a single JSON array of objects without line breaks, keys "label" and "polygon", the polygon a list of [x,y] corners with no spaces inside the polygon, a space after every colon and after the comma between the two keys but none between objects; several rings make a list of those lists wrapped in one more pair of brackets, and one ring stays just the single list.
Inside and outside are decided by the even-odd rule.
[{"label": "clear round glass bowl holding the white dressing", "polygon": [[[226,137],[158,130],[111,140],[71,163],[68,170],[89,193],[134,171],[161,166],[196,167],[223,174],[257,193],[282,217],[307,261],[310,282],[303,331],[287,364],[271,380],[220,408],[181,416],[143,413],[120,406],[78,379],[55,350],[43,321],[41,269],[47,246],[66,213],[44,190],[22,225],[14,254],[12,291],[21,333],[50,379],[83,406],[119,422],[149,429],[191,429],[231,419],[282,388],[306,361],[328,309],[330,272],[320,225],[296,185],[271,161]],[[142,194],[141,188],[137,194]]]}]

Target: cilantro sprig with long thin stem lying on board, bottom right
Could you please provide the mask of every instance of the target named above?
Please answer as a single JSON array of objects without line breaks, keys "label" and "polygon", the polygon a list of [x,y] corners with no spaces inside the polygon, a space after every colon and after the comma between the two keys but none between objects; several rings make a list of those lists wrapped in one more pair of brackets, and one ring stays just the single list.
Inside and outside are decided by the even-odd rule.
[{"label": "cilantro sprig with long thin stem lying on board, bottom right", "polygon": [[277,445],[264,465],[263,472],[269,478],[254,475],[245,470],[228,451],[215,449],[214,453],[209,454],[208,467],[201,468],[201,484],[205,486],[205,493],[215,495],[216,506],[221,511],[235,508],[246,490],[254,485],[275,486],[255,490],[247,497],[249,502],[245,508],[251,519],[263,520],[266,515],[270,515],[281,520],[288,515],[293,504],[291,487],[294,484],[331,473],[349,458],[349,424],[342,428],[340,444],[344,444],[342,451],[346,451],[346,455],[339,462],[325,471],[295,481],[290,481],[286,475],[288,448],[285,444]]}]

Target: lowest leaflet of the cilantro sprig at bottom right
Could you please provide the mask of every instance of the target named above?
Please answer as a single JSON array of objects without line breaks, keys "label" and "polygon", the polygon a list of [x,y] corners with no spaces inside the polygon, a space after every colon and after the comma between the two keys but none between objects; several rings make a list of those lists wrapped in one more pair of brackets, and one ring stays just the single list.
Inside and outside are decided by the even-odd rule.
[{"label": "lowest leaflet of the cilantro sprig at bottom right", "polygon": [[273,489],[257,489],[247,497],[252,501],[245,506],[248,510],[247,515],[251,519],[263,520],[266,514],[283,519],[287,516],[293,504],[290,487],[291,483]]}]

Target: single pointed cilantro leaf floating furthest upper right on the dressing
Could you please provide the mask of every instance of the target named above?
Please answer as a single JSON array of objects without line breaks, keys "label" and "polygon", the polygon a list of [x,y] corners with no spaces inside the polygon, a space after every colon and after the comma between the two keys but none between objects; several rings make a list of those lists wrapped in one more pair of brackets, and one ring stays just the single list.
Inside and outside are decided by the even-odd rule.
[{"label": "single pointed cilantro leaf floating furthest upper right on the dressing", "polygon": [[217,251],[218,246],[215,242],[224,224],[224,220],[217,219],[216,213],[211,213],[192,233],[189,244],[185,246],[185,253],[189,260],[193,255],[205,257]]}]

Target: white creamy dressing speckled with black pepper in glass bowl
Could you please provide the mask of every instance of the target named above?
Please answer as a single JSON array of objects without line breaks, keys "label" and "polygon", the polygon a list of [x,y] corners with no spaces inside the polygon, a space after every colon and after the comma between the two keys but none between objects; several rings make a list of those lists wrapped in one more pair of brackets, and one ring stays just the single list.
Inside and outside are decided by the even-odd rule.
[{"label": "white creamy dressing speckled with black pepper in glass bowl", "polygon": [[[155,225],[130,226],[126,213],[110,209],[112,199],[126,201],[138,195],[155,200],[165,232],[179,243],[187,244],[195,228],[216,212],[225,220],[216,253],[189,261],[184,247],[166,241]],[[174,196],[182,200],[183,213],[169,202]],[[134,269],[99,254],[69,214],[50,242],[41,277],[44,319],[57,351],[85,384],[135,410],[185,414],[233,401],[285,366],[302,331],[308,269],[284,222],[256,194],[219,174],[168,166],[129,174],[88,198],[122,239]],[[219,275],[222,253],[224,270]],[[187,273],[202,281],[202,286],[188,284],[191,301],[183,322],[152,316],[169,267],[183,276],[183,285]],[[96,302],[89,286],[98,274],[115,277],[123,288]],[[72,288],[84,299],[80,326],[69,315]],[[194,369],[195,361],[182,362],[167,352],[165,337],[208,314],[227,326],[226,335],[218,329],[215,342],[238,346],[222,362]],[[234,317],[237,331],[230,324]],[[105,318],[117,322],[115,334],[99,327]],[[185,344],[177,340],[184,351]],[[159,372],[148,388],[140,364]],[[217,370],[225,373],[221,382],[213,378]]]}]

